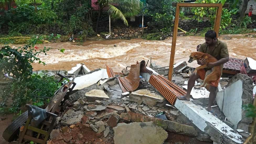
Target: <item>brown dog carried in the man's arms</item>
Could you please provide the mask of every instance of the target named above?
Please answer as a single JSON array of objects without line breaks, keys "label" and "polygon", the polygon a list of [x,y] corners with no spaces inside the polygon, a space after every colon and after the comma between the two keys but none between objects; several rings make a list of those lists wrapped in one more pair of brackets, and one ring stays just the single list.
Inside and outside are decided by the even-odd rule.
[{"label": "brown dog carried in the man's arms", "polygon": [[[203,53],[203,52],[192,52],[189,56],[188,62],[191,63],[192,61],[199,60],[200,58],[205,58],[207,62],[204,65],[201,65],[201,66],[195,68],[195,74],[196,74],[197,70],[202,69],[202,68],[207,68],[207,64],[209,62],[218,61],[215,57],[211,56],[210,54]],[[198,86],[195,88],[206,87],[211,82],[218,80],[220,78],[220,76],[221,76],[221,66],[215,66],[214,70],[208,76],[205,77],[203,84],[201,86]]]}]

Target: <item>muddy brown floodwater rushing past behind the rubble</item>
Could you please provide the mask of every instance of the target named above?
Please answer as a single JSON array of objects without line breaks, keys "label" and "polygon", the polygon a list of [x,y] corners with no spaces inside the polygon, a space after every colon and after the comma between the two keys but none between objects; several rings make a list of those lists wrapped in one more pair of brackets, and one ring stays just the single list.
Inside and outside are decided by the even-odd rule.
[{"label": "muddy brown floodwater rushing past behind the rubble", "polygon": [[[224,35],[219,39],[228,45],[230,57],[245,59],[251,57],[256,60],[256,39],[243,35],[232,35],[231,40],[224,40]],[[175,63],[188,61],[189,54],[196,51],[196,46],[204,42],[200,36],[179,36],[177,38]],[[116,45],[116,47],[114,47]],[[162,41],[149,41],[144,39],[131,40],[95,40],[85,41],[82,45],[76,42],[57,42],[44,44],[50,50],[47,55],[39,55],[41,61],[47,65],[33,63],[36,70],[70,70],[77,63],[84,63],[90,70],[105,68],[108,65],[114,71],[120,71],[126,66],[136,64],[136,61],[150,60],[161,66],[168,66],[172,38]],[[42,48],[43,45],[39,45]],[[58,49],[65,49],[61,53]],[[188,63],[189,66],[197,66],[196,62]]]}]

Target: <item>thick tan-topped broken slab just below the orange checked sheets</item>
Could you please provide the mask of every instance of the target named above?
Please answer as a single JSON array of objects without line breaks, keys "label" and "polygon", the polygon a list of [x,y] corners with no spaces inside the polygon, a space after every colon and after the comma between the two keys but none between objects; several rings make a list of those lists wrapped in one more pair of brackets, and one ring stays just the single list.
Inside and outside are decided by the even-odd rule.
[{"label": "thick tan-topped broken slab just below the orange checked sheets", "polygon": [[136,102],[138,105],[144,103],[148,106],[154,106],[157,102],[162,103],[165,100],[166,99],[159,92],[150,91],[148,89],[140,89],[129,95],[129,101]]}]

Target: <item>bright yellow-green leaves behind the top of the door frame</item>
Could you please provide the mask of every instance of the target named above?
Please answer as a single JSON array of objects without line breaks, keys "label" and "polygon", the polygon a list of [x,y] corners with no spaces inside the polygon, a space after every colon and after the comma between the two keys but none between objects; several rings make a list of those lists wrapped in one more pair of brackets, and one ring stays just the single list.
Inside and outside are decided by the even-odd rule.
[{"label": "bright yellow-green leaves behind the top of the door frame", "polygon": [[[221,0],[196,0],[196,3],[221,3]],[[209,19],[212,25],[214,25],[217,8],[192,8],[192,12],[195,14],[194,18],[199,22],[203,19]],[[225,29],[231,23],[231,15],[236,14],[238,9],[226,9],[223,8],[221,15],[220,29]]]}]

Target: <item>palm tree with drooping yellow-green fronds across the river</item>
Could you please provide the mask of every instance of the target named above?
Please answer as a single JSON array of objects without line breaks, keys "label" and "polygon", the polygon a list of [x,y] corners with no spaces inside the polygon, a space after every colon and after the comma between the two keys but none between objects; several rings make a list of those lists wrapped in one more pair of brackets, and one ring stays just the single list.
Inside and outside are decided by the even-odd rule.
[{"label": "palm tree with drooping yellow-green fronds across the river", "polygon": [[140,0],[98,0],[94,4],[99,8],[96,33],[98,33],[99,19],[104,8],[112,19],[121,19],[125,25],[128,25],[126,17],[137,15],[142,7]]}]

